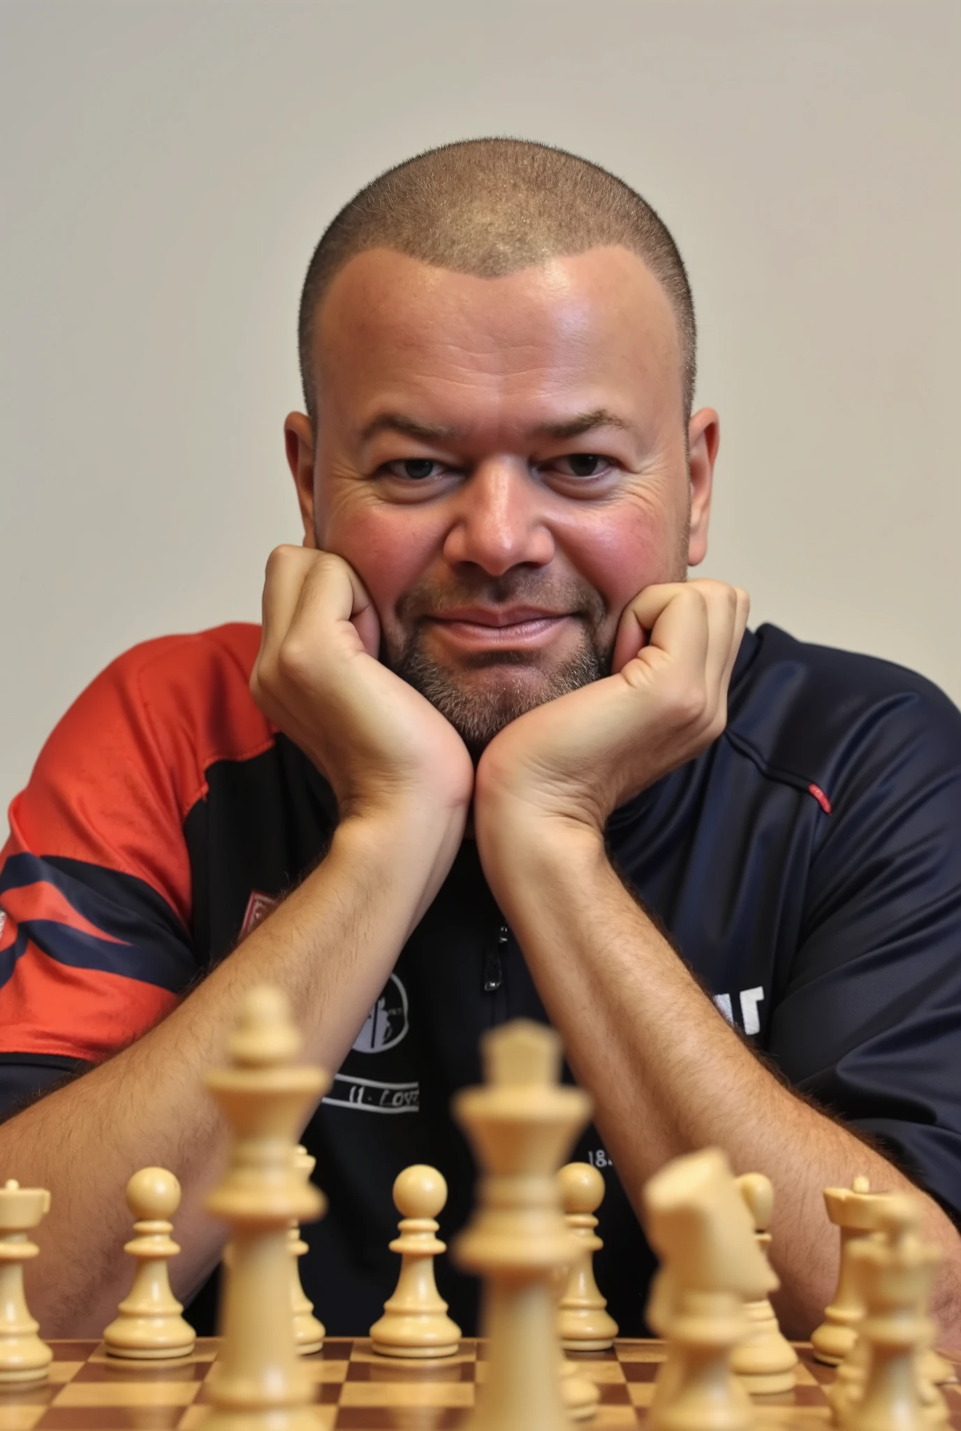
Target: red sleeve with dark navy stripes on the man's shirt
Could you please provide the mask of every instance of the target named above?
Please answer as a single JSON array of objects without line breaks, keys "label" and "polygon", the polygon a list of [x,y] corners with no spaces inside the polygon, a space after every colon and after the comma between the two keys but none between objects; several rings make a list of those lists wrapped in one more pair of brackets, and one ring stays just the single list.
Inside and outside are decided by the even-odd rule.
[{"label": "red sleeve with dark navy stripes on the man's shirt", "polygon": [[196,977],[183,821],[215,760],[272,743],[247,691],[257,640],[136,647],[50,736],[0,853],[0,1053],[97,1062]]}]

